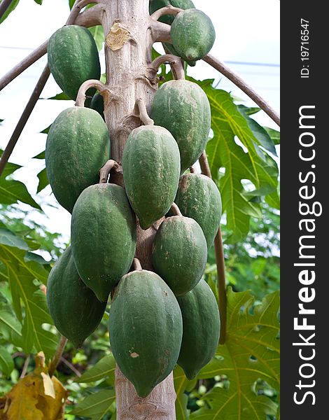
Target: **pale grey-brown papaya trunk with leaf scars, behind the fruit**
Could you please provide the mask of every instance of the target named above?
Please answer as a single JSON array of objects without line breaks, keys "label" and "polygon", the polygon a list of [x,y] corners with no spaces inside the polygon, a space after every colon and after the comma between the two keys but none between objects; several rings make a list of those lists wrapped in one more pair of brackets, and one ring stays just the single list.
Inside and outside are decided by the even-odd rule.
[{"label": "pale grey-brown papaya trunk with leaf scars, behind the fruit", "polygon": [[[105,34],[106,87],[104,115],[111,138],[111,158],[119,164],[130,132],[141,125],[137,99],[149,111],[157,85],[146,78],[151,64],[153,34],[148,0],[105,0],[102,25]],[[123,186],[123,174],[111,176]],[[155,227],[137,230],[137,257],[144,269],[152,269],[151,244]],[[139,398],[134,386],[116,368],[116,409],[118,420],[174,420],[173,375],[156,386],[147,398]]]}]

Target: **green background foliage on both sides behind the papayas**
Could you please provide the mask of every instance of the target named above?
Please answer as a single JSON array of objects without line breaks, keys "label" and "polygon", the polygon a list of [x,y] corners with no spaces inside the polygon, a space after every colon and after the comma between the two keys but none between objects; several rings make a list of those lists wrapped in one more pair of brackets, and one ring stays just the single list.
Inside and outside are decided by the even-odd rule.
[{"label": "green background foliage on both sides behind the papayas", "polygon": [[[41,3],[42,1],[37,1]],[[13,1],[12,8],[18,1]],[[102,30],[91,29],[99,48]],[[156,55],[156,52],[154,52]],[[162,66],[161,76],[172,76]],[[190,80],[193,80],[190,78]],[[236,104],[213,80],[193,80],[211,104],[207,155],[221,191],[228,285],[228,337],[197,379],[174,371],[177,419],[279,419],[279,132],[253,120],[259,109]],[[65,100],[63,93],[50,99]],[[1,117],[1,116],[0,116]],[[43,130],[46,134],[49,127]],[[40,153],[35,159],[44,159]],[[0,395],[36,367],[32,354],[52,358],[59,334],[45,303],[48,272],[67,244],[29,218],[27,207],[47,185],[43,169],[32,196],[8,163],[0,179]],[[205,279],[217,299],[214,248]],[[251,289],[250,291],[247,291]],[[115,362],[109,349],[107,311],[81,349],[68,343],[57,377],[69,396],[65,419],[115,419]],[[0,396],[0,418],[1,418]]]}]

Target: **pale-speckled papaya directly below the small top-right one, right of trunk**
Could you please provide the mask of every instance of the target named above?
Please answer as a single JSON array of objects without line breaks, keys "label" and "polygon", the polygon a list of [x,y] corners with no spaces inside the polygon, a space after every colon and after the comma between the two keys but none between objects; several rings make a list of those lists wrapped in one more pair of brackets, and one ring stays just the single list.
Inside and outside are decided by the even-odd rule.
[{"label": "pale-speckled papaya directly below the small top-right one, right of trunk", "polygon": [[167,128],[179,145],[181,173],[200,158],[210,130],[210,105],[196,83],[169,80],[155,93],[151,118]]}]

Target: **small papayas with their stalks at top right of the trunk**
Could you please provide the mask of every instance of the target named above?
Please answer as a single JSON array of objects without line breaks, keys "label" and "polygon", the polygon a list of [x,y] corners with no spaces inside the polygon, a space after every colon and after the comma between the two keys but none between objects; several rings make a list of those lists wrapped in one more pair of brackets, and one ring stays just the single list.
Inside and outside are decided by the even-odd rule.
[{"label": "small papayas with their stalks at top right of the trunk", "polygon": [[162,15],[160,22],[171,25],[172,44],[164,43],[165,50],[178,55],[190,66],[195,66],[211,50],[215,42],[215,29],[211,19],[197,10],[191,0],[151,0],[150,13],[165,6],[174,6],[183,11],[174,15]]}]

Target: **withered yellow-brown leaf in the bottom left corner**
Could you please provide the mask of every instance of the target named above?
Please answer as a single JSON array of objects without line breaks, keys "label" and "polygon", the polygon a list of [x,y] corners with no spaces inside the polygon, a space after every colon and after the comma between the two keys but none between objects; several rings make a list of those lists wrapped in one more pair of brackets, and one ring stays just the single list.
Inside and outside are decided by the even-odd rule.
[{"label": "withered yellow-brown leaf in the bottom left corner", "polygon": [[67,391],[57,378],[50,378],[43,353],[35,360],[34,371],[1,398],[1,420],[64,420]]}]

